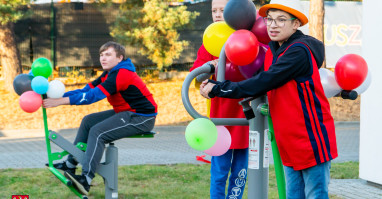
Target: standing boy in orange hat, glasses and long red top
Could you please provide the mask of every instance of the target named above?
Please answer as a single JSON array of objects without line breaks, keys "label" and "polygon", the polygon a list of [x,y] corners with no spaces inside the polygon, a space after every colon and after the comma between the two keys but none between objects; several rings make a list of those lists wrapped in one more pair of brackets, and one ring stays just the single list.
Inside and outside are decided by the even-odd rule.
[{"label": "standing boy in orange hat, glasses and long red top", "polygon": [[297,30],[308,22],[299,0],[272,0],[259,14],[272,39],[264,71],[241,82],[206,80],[200,93],[206,98],[267,94],[287,198],[329,198],[330,162],[338,154],[334,120],[318,72],[324,45]]}]

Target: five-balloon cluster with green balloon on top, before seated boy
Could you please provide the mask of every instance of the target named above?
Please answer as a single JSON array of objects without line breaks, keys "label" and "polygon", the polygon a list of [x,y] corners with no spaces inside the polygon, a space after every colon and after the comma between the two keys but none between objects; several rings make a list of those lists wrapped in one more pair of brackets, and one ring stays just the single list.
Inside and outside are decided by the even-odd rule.
[{"label": "five-balloon cluster with green balloon on top, before seated boy", "polygon": [[31,72],[20,74],[13,80],[13,88],[20,96],[19,105],[27,113],[37,111],[42,105],[41,95],[60,98],[65,93],[65,85],[59,80],[48,81],[52,74],[52,63],[43,57],[32,63]]}]

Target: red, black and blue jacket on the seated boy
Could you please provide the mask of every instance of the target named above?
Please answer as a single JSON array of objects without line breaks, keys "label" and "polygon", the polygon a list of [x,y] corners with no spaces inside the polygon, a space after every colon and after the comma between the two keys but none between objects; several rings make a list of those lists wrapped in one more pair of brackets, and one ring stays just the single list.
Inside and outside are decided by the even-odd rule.
[{"label": "red, black and blue jacket on the seated boy", "polygon": [[107,98],[116,113],[130,111],[143,116],[157,115],[157,104],[130,59],[104,71],[83,89],[69,91],[71,105],[85,105]]}]

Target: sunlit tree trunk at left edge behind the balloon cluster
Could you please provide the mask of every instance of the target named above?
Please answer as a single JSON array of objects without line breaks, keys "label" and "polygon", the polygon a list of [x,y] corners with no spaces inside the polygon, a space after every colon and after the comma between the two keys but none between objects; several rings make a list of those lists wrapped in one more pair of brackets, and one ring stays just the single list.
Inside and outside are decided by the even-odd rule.
[{"label": "sunlit tree trunk at left edge behind the balloon cluster", "polygon": [[22,70],[12,23],[0,24],[0,61],[4,88],[13,92],[13,80]]}]

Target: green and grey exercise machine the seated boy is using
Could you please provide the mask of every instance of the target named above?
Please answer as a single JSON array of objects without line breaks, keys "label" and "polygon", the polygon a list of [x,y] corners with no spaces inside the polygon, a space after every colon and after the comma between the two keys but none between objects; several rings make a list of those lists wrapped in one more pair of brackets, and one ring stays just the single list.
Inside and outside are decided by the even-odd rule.
[{"label": "green and grey exercise machine the seated boy is using", "polygon": [[[44,130],[46,149],[48,153],[49,171],[51,171],[62,183],[64,183],[74,194],[79,198],[87,199],[86,195],[80,194],[74,187],[70,180],[68,180],[62,173],[53,167],[54,160],[60,160],[68,154],[72,154],[78,162],[83,162],[85,158],[86,143],[78,143],[76,146],[63,138],[61,135],[54,131],[48,130],[46,109],[43,108]],[[155,132],[145,132],[139,135],[131,136],[128,138],[153,138]],[[57,146],[64,149],[62,152],[52,153],[50,142],[55,143]],[[109,143],[106,147],[105,162],[101,163],[96,173],[102,176],[105,183],[105,199],[118,198],[118,148],[114,143]]]}]

